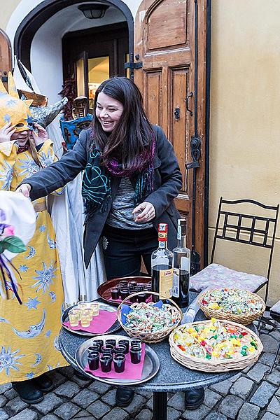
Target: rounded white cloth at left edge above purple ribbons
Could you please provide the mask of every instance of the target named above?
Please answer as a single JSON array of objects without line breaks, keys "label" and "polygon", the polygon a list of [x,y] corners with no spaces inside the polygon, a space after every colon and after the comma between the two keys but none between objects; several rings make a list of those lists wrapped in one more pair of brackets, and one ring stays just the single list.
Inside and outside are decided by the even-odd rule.
[{"label": "rounded white cloth at left edge above purple ribbons", "polygon": [[[2,223],[12,225],[15,236],[27,245],[36,228],[36,213],[30,200],[21,193],[0,191],[0,209],[5,213],[5,220]],[[18,254],[4,251],[3,255],[11,260]]]}]

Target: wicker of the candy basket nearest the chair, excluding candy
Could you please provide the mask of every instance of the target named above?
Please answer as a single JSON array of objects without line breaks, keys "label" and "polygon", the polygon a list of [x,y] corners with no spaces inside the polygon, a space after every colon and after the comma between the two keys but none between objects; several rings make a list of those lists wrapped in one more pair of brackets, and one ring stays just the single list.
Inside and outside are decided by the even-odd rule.
[{"label": "wicker of the candy basket nearest the chair, excluding candy", "polygon": [[[215,289],[208,289],[205,290],[204,293],[213,292],[215,290],[220,290],[221,288],[215,288]],[[241,323],[243,325],[248,325],[255,321],[259,316],[263,314],[265,311],[265,301],[257,295],[256,293],[248,292],[248,295],[252,295],[253,299],[258,300],[262,303],[262,309],[258,312],[252,312],[247,314],[227,314],[226,312],[222,311],[221,309],[209,309],[205,307],[205,305],[202,303],[202,300],[204,299],[204,293],[201,293],[199,297],[197,298],[197,302],[200,305],[200,309],[204,312],[205,316],[208,316],[209,318],[217,318],[217,319],[227,319],[228,321],[233,321],[237,323]]]}]

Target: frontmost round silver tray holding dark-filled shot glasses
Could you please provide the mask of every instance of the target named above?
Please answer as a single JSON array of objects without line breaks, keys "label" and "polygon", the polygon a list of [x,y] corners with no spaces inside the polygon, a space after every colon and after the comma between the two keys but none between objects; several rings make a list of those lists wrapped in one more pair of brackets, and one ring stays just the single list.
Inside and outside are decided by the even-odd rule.
[{"label": "frontmost round silver tray holding dark-filled shot glasses", "polygon": [[144,359],[144,366],[141,379],[116,379],[116,378],[101,378],[97,377],[90,372],[85,372],[85,367],[87,366],[87,348],[92,345],[94,339],[109,339],[113,338],[118,341],[118,339],[131,339],[130,337],[126,337],[125,335],[99,335],[96,338],[87,339],[86,342],[80,344],[78,349],[76,350],[75,358],[78,367],[80,370],[92,379],[97,379],[97,381],[105,382],[105,384],[111,385],[137,385],[143,384],[143,382],[148,381],[149,379],[153,378],[155,374],[158,373],[160,369],[160,360],[158,358],[157,353],[151,349],[150,346],[145,344],[145,359]]}]

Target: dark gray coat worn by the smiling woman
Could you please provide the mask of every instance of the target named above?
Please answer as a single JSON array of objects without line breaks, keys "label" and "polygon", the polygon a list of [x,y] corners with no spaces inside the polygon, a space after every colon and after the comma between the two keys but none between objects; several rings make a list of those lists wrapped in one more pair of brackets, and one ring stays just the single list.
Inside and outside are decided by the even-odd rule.
[{"label": "dark gray coat worn by the smiling woman", "polygon": [[[174,198],[182,188],[182,175],[172,144],[165,137],[165,133],[158,126],[154,126],[156,136],[155,151],[155,181],[154,191],[146,202],[151,202],[155,207],[155,219],[153,225],[158,229],[158,223],[168,223],[168,247],[173,249],[176,246],[177,219],[180,218]],[[85,169],[90,154],[90,130],[84,130],[71,151],[68,151],[60,160],[52,163],[43,171],[25,179],[24,183],[31,186],[31,200],[45,197],[64,186],[74,179],[80,171]],[[111,176],[112,200],[109,201],[107,211],[103,213],[97,210],[85,223],[84,250],[85,265],[88,267],[90,258],[102,235],[102,230],[111,209],[111,204],[116,196],[120,178]]]}]

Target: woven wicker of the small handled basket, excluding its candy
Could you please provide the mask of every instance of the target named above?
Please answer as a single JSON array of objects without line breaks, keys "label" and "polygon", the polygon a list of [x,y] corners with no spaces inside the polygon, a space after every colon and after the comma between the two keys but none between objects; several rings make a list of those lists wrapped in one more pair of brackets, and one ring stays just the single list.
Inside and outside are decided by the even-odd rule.
[{"label": "woven wicker of the small handled basket, excluding its candy", "polygon": [[[163,330],[156,331],[156,332],[142,332],[142,331],[139,331],[139,330],[132,330],[132,328],[127,328],[122,322],[120,309],[121,309],[123,303],[125,303],[127,300],[130,300],[130,297],[137,296],[137,295],[139,295],[139,293],[141,294],[143,292],[133,293],[132,295],[126,297],[125,300],[123,300],[123,302],[121,302],[119,304],[118,309],[117,309],[118,321],[119,321],[120,325],[123,327],[123,329],[125,330],[125,332],[127,332],[127,334],[130,335],[130,337],[140,338],[145,343],[161,342],[163,339],[165,339],[170,334],[170,332],[172,332],[174,330],[174,328],[176,328],[179,325],[179,323],[181,323],[183,313],[182,313],[181,309],[179,308],[179,306],[169,297],[162,296],[162,295],[160,295],[159,293],[156,293],[156,292],[148,292],[151,295],[160,296],[161,300],[162,299],[163,300],[169,300],[169,302],[172,302],[172,304],[174,306],[172,306],[172,304],[166,304],[166,307],[172,313],[172,315],[175,317],[176,322],[174,323],[174,325],[172,325],[172,327],[167,327],[167,328],[164,328]],[[139,307],[139,305],[141,305],[141,306],[143,306],[143,305],[151,306],[151,305],[153,305],[153,302],[132,303],[130,305],[130,307],[131,308],[137,308],[137,307]]]}]

